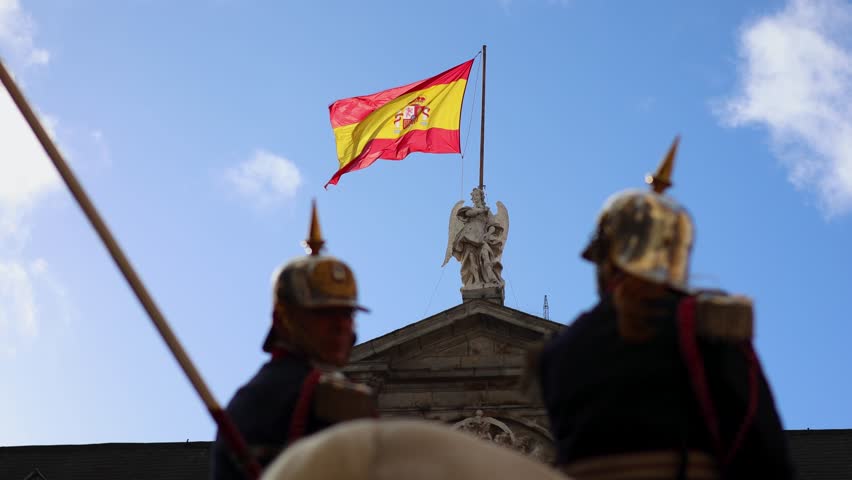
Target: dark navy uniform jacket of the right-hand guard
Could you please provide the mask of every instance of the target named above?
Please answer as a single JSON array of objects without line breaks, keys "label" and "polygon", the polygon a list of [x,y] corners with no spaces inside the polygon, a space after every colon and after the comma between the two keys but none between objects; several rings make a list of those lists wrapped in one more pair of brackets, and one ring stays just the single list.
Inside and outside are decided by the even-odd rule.
[{"label": "dark navy uniform jacket of the right-hand guard", "polygon": [[[542,394],[556,439],[557,464],[608,454],[702,450],[713,443],[678,346],[675,311],[651,319],[644,342],[624,340],[607,296],[544,348]],[[699,339],[707,385],[726,444],[743,423],[748,365],[742,345]],[[758,367],[759,368],[759,367]],[[792,479],[772,393],[758,373],[758,408],[726,478]]]}]

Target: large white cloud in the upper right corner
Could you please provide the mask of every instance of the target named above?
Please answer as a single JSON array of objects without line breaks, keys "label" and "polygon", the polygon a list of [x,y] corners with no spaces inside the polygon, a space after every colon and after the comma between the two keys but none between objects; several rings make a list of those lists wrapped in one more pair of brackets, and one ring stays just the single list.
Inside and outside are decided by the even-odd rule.
[{"label": "large white cloud in the upper right corner", "polygon": [[791,0],[746,25],[741,86],[717,113],[769,130],[790,181],[829,215],[852,210],[852,5]]}]

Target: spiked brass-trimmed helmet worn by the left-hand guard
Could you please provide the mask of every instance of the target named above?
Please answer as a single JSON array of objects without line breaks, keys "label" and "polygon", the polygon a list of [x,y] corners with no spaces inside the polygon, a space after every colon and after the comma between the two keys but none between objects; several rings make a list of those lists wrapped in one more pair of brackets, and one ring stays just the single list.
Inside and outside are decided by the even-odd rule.
[{"label": "spiked brass-trimmed helmet worn by the left-hand guard", "polygon": [[[284,312],[288,307],[368,311],[358,303],[358,288],[352,269],[335,257],[320,254],[325,240],[320,231],[316,202],[312,206],[308,239],[302,245],[307,255],[287,262],[273,276],[273,305]],[[286,313],[285,316],[289,317]],[[285,318],[284,321],[293,324],[298,320]],[[291,328],[294,326],[290,325]],[[270,351],[274,347],[275,338],[273,325],[263,343],[263,349]]]}]

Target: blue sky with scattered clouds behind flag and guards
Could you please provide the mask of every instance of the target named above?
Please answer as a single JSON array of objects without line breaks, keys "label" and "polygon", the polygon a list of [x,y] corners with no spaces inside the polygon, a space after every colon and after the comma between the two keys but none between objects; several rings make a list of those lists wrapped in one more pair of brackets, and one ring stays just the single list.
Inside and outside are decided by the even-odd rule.
[{"label": "blue sky with scattered clouds behind flag and guards", "polygon": [[[829,0],[0,0],[0,51],[223,404],[264,360],[270,275],[302,253],[312,198],[372,308],[361,339],[461,301],[458,264],[440,265],[477,183],[479,99],[463,160],[380,161],[325,191],[327,106],[484,43],[506,304],[589,308],[600,205],[681,134],[693,283],[754,298],[787,428],[850,428],[850,23]],[[211,439],[5,93],[0,122],[0,445]]]}]

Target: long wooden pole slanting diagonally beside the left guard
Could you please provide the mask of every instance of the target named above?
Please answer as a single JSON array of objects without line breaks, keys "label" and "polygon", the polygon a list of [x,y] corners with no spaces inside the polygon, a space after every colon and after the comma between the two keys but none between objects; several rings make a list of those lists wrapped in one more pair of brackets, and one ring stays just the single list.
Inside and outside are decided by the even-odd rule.
[{"label": "long wooden pole slanting diagonally beside the left guard", "polygon": [[6,65],[4,65],[2,61],[0,61],[0,81],[3,82],[3,85],[9,92],[9,96],[12,97],[12,101],[15,102],[18,110],[21,111],[21,114],[29,124],[39,143],[41,143],[41,146],[44,148],[47,156],[53,162],[53,165],[56,167],[59,175],[65,181],[65,184],[68,186],[68,189],[71,191],[74,199],[77,200],[77,204],[83,210],[83,213],[89,219],[89,222],[91,222],[92,227],[94,227],[98,236],[100,236],[101,241],[104,243],[104,246],[106,246],[106,249],[109,251],[122,275],[124,275],[124,278],[127,280],[130,288],[136,294],[136,297],[145,308],[145,311],[148,312],[148,316],[151,318],[151,321],[154,322],[154,326],[157,328],[157,331],[160,332],[160,335],[163,337],[163,340],[166,342],[169,350],[171,350],[172,355],[174,355],[186,376],[189,377],[190,383],[201,397],[201,400],[207,406],[207,410],[219,426],[220,431],[228,441],[229,446],[243,462],[243,465],[247,470],[246,473],[252,479],[259,478],[261,473],[260,465],[251,457],[245,440],[242,435],[240,435],[239,430],[237,430],[230,417],[228,417],[228,414],[222,410],[222,407],[220,407],[216,402],[216,399],[213,398],[213,394],[207,388],[204,380],[202,380],[201,374],[198,373],[195,365],[193,365],[192,361],[189,359],[189,355],[187,355],[174,332],[169,327],[165,317],[154,303],[154,299],[148,293],[148,290],[145,288],[142,280],[136,274],[136,271],[133,269],[130,261],[124,255],[124,252],[121,250],[118,242],[112,236],[112,233],[103,218],[101,218],[95,208],[95,205],[89,199],[86,191],[83,190],[83,186],[77,180],[74,172],[71,171],[71,168],[62,158],[62,154],[59,153],[59,149],[56,148],[56,145],[53,143],[50,135],[47,134],[47,131],[38,120],[38,117],[33,112],[29,103],[27,103],[27,99],[18,88],[14,79],[12,79],[8,70],[6,70]]}]

